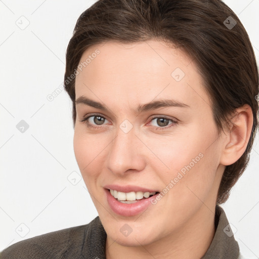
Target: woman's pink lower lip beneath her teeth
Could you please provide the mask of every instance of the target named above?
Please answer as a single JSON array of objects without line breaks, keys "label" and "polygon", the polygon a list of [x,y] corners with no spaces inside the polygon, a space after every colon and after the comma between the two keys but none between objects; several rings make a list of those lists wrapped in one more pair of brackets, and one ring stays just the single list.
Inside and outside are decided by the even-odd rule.
[{"label": "woman's pink lower lip beneath her teeth", "polygon": [[110,205],[111,209],[122,216],[125,217],[130,217],[130,216],[135,216],[143,211],[145,211],[148,206],[150,206],[151,203],[151,199],[156,198],[156,196],[159,194],[157,193],[156,195],[153,195],[147,199],[143,199],[140,201],[137,201],[135,203],[121,203],[119,202],[117,199],[115,199],[111,193],[110,190],[105,189],[106,195],[107,195],[107,201],[108,204]]}]

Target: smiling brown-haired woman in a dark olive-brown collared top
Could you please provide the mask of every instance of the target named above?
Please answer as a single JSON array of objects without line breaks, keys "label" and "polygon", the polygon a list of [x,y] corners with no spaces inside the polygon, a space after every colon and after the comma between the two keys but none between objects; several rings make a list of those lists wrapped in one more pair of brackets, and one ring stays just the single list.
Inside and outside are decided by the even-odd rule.
[{"label": "smiling brown-haired woman in a dark olive-brown collared top", "polygon": [[243,258],[220,204],[257,130],[258,70],[220,0],[103,0],[66,53],[74,152],[99,216],[1,258]]}]

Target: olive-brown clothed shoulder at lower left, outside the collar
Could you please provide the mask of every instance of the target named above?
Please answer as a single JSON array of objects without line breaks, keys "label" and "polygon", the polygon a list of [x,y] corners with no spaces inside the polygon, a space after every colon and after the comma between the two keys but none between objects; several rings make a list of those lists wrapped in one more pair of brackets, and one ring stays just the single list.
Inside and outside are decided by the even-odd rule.
[{"label": "olive-brown clothed shoulder at lower left, outside the collar", "polygon": [[[94,220],[95,221],[95,220]],[[90,224],[49,232],[19,241],[0,252],[1,259],[65,258],[77,257]],[[78,256],[79,257],[79,256]]]}]

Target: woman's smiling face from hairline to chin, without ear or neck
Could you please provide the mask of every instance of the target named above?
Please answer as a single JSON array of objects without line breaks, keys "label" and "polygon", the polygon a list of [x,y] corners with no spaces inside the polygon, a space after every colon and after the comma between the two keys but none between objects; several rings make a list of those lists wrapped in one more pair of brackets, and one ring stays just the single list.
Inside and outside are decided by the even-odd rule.
[{"label": "woman's smiling face from hairline to chin, without ear or neck", "polygon": [[196,65],[155,40],[106,42],[88,58],[75,80],[74,152],[108,237],[151,244],[206,220],[224,168]]}]

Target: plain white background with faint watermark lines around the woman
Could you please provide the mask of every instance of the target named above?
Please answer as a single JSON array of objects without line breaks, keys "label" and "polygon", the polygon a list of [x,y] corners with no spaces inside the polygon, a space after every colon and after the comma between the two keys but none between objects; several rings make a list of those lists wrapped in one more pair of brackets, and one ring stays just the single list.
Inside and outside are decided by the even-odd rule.
[{"label": "plain white background with faint watermark lines around the woman", "polygon": [[[47,99],[62,89],[75,22],[94,2],[0,1],[0,250],[98,215],[74,157],[72,103],[64,90]],[[259,0],[225,3],[246,28],[258,61]],[[16,127],[21,120],[29,125],[24,133]],[[251,258],[259,256],[258,165],[257,136],[249,166],[223,204],[241,252]],[[68,181],[72,172],[76,185]]]}]

